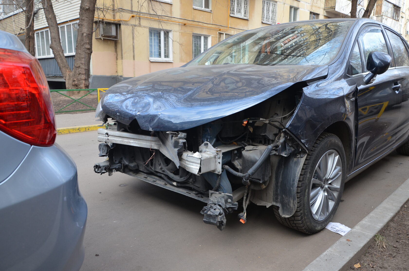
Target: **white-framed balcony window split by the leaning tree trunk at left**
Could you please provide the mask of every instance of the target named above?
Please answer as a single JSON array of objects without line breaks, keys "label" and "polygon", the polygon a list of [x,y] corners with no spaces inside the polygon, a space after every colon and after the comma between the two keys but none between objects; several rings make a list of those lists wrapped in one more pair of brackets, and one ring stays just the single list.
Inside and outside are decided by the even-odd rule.
[{"label": "white-framed balcony window split by the leaning tree trunk at left", "polygon": [[[78,23],[68,23],[58,27],[61,47],[63,47],[64,55],[71,56],[75,54],[76,40],[78,36]],[[36,32],[35,35],[36,57],[53,57],[54,54],[50,49],[51,37],[49,29],[44,29]]]}]

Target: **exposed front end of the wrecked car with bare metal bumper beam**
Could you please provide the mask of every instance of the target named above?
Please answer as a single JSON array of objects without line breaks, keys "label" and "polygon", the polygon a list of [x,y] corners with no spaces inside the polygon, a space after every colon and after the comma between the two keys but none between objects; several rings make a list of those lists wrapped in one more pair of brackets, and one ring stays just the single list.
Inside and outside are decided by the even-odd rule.
[{"label": "exposed front end of the wrecked car with bare metal bumper beam", "polygon": [[245,223],[249,201],[274,205],[273,171],[282,166],[280,158],[307,153],[285,128],[302,95],[290,93],[182,131],[147,131],[136,119],[127,125],[106,115],[98,130],[99,156],[106,160],[94,171],[123,172],[203,201],[204,222],[220,230],[243,198],[239,218]]}]

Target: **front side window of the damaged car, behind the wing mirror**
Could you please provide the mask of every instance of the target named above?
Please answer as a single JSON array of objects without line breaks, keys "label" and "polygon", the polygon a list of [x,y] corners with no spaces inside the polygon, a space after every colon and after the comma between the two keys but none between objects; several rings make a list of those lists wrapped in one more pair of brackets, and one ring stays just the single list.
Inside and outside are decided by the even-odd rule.
[{"label": "front side window of the damaged car, behind the wing mirror", "polygon": [[362,54],[364,54],[365,65],[368,55],[372,51],[380,51],[389,54],[382,30],[379,28],[372,26],[364,28],[358,39],[362,47]]}]

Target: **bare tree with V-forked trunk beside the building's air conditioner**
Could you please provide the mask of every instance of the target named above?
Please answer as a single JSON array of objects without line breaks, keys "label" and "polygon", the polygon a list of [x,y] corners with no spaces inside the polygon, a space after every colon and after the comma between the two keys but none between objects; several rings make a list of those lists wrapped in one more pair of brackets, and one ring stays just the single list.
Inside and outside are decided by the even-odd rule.
[{"label": "bare tree with V-forked trunk beside the building's air conditioner", "polygon": [[[52,0],[41,0],[50,33],[50,48],[65,79],[67,89],[86,89],[90,85],[90,61],[92,32],[96,0],[81,0],[79,9],[78,38],[75,47],[74,67],[71,70],[64,56],[57,19]],[[72,93],[79,95],[79,92]]]}]

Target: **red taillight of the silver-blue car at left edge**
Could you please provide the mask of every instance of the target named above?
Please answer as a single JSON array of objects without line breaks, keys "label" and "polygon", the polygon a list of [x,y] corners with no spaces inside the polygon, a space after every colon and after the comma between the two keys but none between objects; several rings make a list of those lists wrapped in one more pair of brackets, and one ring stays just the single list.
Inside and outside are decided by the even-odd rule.
[{"label": "red taillight of the silver-blue car at left edge", "polygon": [[25,52],[0,49],[0,130],[36,146],[56,137],[54,108],[37,59]]}]

